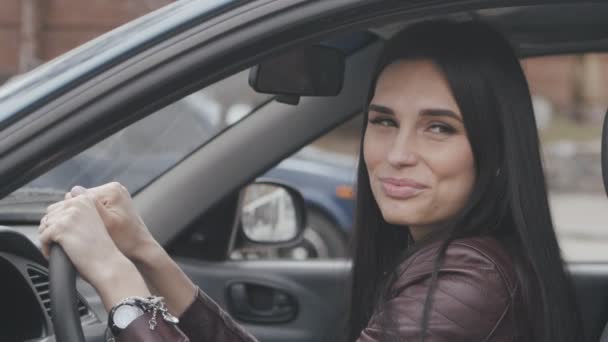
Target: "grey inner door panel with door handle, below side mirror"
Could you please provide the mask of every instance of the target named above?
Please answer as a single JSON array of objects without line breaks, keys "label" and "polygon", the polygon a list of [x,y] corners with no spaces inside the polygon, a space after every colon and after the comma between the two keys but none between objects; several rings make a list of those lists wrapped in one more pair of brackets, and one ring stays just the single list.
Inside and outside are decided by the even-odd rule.
[{"label": "grey inner door panel with door handle, below side mirror", "polygon": [[[349,292],[348,261],[216,263],[184,258],[176,261],[232,317],[243,317],[243,309],[235,305],[235,299],[256,307],[257,316],[275,314],[276,318],[283,313],[283,318],[289,317],[282,322],[257,324],[246,318],[249,323],[238,321],[261,342],[333,342],[337,340],[335,334],[344,326]],[[243,284],[249,288],[243,289]],[[296,313],[292,318],[289,313],[294,307]]]}]

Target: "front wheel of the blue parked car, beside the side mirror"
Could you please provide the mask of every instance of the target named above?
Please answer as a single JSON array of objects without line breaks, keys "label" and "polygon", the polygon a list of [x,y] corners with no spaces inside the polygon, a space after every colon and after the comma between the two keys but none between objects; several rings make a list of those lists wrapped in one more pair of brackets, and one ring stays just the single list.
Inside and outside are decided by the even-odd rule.
[{"label": "front wheel of the blue parked car, beside the side mirror", "polygon": [[344,258],[348,256],[348,244],[340,227],[309,209],[302,241],[293,247],[280,248],[279,256],[296,260]]}]

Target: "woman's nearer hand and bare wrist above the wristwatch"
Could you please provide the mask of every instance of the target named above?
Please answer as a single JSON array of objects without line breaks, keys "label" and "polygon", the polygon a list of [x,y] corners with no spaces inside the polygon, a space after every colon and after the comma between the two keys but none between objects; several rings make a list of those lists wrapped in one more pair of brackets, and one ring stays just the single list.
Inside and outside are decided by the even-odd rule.
[{"label": "woman's nearer hand and bare wrist above the wristwatch", "polygon": [[61,245],[78,273],[95,287],[106,308],[127,296],[149,295],[135,266],[112,242],[95,199],[86,191],[49,207],[39,233],[43,254],[48,258],[51,244]]}]

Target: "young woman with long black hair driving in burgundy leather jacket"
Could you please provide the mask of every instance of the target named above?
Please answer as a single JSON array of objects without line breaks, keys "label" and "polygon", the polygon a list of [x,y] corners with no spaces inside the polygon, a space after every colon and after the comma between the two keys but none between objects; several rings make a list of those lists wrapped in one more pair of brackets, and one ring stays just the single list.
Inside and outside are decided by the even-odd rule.
[{"label": "young woman with long black hair driving in burgundy leather jacket", "polygon": [[[481,23],[416,24],[377,70],[346,339],[582,340],[508,42]],[[119,341],[255,341],[154,241],[120,184],[74,188],[49,207],[40,239],[46,255],[61,244],[97,289]],[[177,325],[155,315],[150,291]]]}]

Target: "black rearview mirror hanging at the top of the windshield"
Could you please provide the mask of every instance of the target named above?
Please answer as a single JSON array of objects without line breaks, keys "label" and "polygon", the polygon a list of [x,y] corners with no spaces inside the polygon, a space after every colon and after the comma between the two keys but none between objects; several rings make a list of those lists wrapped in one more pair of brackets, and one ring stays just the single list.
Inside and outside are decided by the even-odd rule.
[{"label": "black rearview mirror hanging at the top of the windshield", "polygon": [[345,56],[337,49],[312,45],[272,57],[253,67],[249,85],[258,93],[288,96],[336,96],[342,90]]}]

